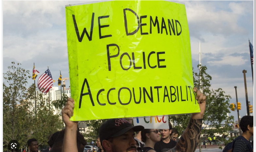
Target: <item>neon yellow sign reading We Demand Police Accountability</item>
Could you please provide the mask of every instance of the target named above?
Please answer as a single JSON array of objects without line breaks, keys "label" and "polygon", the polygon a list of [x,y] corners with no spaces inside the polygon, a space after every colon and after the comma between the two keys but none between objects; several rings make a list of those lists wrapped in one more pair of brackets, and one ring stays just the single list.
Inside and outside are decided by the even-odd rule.
[{"label": "neon yellow sign reading We Demand Police Accountability", "polygon": [[66,6],[73,121],[199,112],[184,4]]}]

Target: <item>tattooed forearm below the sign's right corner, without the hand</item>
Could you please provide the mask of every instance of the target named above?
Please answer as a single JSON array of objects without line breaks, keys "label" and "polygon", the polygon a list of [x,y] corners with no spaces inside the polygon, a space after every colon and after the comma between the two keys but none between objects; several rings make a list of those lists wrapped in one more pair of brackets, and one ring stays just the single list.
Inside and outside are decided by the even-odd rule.
[{"label": "tattooed forearm below the sign's right corner, without the hand", "polygon": [[169,152],[194,152],[199,143],[203,119],[190,118],[189,125]]}]

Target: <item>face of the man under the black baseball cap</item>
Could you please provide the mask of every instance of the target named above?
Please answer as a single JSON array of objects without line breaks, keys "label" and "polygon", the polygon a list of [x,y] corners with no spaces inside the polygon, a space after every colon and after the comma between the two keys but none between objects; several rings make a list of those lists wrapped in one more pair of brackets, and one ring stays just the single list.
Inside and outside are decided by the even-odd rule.
[{"label": "face of the man under the black baseball cap", "polygon": [[127,131],[121,136],[114,137],[112,144],[112,152],[136,152],[136,141],[134,140],[133,129]]}]

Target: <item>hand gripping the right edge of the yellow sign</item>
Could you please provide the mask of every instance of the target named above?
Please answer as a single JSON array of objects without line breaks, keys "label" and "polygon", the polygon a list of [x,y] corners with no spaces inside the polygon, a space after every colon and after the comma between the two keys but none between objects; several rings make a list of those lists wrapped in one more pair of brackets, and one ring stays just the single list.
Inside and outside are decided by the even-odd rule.
[{"label": "hand gripping the right edge of the yellow sign", "polygon": [[192,114],[192,119],[203,119],[204,111],[206,107],[206,96],[203,93],[201,93],[199,90],[197,90],[196,87],[194,88],[194,92],[196,93],[196,99],[200,107],[200,112]]}]

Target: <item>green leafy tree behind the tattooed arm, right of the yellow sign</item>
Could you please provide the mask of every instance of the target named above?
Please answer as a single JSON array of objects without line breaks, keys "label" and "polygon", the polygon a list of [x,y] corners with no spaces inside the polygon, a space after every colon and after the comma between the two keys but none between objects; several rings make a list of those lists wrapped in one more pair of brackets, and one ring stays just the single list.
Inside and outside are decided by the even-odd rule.
[{"label": "green leafy tree behind the tattooed arm, right of the yellow sign", "polygon": [[[214,133],[223,134],[231,129],[230,123],[233,123],[234,117],[227,116],[229,113],[229,101],[230,95],[225,95],[225,92],[218,88],[216,90],[210,90],[210,81],[212,77],[206,73],[206,66],[197,66],[200,70],[199,73],[193,71],[194,76],[194,86],[198,89],[202,89],[203,93],[206,95],[206,110],[203,117],[203,129],[201,130],[200,142],[203,142],[203,136],[213,136]],[[201,85],[200,85],[201,77]],[[181,133],[186,129],[187,123],[190,119],[190,114],[188,115],[178,115],[170,116],[172,122],[177,122],[179,125],[177,129]],[[207,128],[207,129],[206,129]],[[201,151],[201,146],[199,146]]]}]

